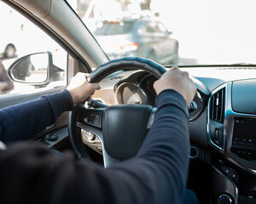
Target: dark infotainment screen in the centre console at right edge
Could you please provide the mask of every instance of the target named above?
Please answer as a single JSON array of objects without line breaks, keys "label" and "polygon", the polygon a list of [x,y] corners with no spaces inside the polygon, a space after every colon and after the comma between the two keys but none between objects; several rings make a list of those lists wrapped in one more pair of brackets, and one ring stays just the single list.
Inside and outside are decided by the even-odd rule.
[{"label": "dark infotainment screen in the centre console at right edge", "polygon": [[231,151],[256,161],[256,119],[235,118]]}]

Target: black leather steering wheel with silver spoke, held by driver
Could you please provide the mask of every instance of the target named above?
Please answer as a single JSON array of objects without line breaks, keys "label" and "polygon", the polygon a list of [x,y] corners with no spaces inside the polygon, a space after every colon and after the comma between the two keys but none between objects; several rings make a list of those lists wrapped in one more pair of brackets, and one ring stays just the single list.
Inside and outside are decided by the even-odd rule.
[{"label": "black leather steering wheel with silver spoke, held by driver", "polygon": [[[150,59],[126,57],[100,65],[87,79],[89,82],[100,82],[120,70],[148,71],[158,78],[166,72],[164,66]],[[101,140],[104,167],[136,156],[148,128],[154,122],[155,111],[152,105],[111,105],[88,109],[81,102],[69,115],[68,131],[73,149],[77,156],[86,156],[81,139],[81,129],[84,129]]]}]

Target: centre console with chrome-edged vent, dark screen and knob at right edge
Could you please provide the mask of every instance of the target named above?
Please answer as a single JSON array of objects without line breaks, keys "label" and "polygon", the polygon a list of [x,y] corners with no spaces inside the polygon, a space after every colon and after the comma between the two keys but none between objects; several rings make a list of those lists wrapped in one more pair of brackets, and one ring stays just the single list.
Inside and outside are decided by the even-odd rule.
[{"label": "centre console with chrome-edged vent, dark screen and knob at right edge", "polygon": [[256,203],[256,80],[227,82],[208,103],[214,203]]}]

